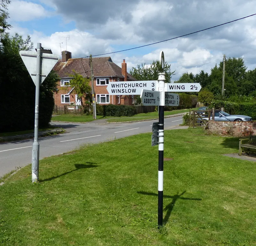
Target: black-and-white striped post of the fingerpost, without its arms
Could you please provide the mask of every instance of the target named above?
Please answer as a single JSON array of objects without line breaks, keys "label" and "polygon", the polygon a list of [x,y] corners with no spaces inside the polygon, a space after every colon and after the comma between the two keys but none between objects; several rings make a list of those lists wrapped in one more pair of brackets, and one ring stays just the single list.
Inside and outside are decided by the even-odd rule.
[{"label": "black-and-white striped post of the fingerpost, without its arms", "polygon": [[160,91],[159,106],[159,144],[158,144],[158,226],[163,226],[163,196],[164,196],[164,81],[165,73],[158,74]]}]

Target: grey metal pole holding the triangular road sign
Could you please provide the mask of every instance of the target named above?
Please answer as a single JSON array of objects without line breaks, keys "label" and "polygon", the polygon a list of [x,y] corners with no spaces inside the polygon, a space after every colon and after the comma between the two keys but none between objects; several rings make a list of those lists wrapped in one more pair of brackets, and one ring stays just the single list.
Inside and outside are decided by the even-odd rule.
[{"label": "grey metal pole holding the triangular road sign", "polygon": [[39,180],[39,143],[38,143],[38,119],[39,119],[39,93],[41,75],[41,43],[37,43],[36,56],[36,102],[35,102],[35,133],[32,147],[32,183]]}]

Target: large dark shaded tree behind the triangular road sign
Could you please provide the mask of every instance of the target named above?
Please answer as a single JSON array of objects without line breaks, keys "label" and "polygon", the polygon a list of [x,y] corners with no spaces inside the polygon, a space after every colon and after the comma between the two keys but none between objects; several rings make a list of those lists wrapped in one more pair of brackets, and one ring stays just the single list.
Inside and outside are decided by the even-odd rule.
[{"label": "large dark shaded tree behind the triangular road sign", "polygon": [[[19,51],[33,47],[30,37],[9,33],[2,35],[0,44],[0,104],[5,109],[0,119],[0,131],[23,131],[34,128],[35,84],[25,67]],[[39,127],[47,127],[54,107],[53,91],[58,76],[51,72],[40,88]]]}]

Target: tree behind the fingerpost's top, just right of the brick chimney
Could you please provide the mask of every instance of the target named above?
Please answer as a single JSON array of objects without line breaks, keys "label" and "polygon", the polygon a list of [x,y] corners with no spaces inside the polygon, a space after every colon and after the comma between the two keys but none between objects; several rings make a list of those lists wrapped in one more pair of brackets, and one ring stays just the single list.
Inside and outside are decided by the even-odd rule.
[{"label": "tree behind the fingerpost's top, just right of the brick chimney", "polygon": [[[158,73],[162,70],[159,60],[153,61],[152,64],[146,66],[141,64],[136,67],[132,67],[130,74],[137,80],[157,80]],[[170,83],[172,75],[175,71],[171,72],[171,65],[167,62],[164,63],[165,83]]]}]

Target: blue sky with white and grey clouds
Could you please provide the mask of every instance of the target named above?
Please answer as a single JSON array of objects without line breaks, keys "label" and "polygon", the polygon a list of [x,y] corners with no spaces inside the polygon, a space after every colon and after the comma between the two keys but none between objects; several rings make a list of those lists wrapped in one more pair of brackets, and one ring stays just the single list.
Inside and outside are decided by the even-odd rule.
[{"label": "blue sky with white and grey clouds", "polygon": [[[110,56],[120,67],[125,59],[129,72],[159,60],[163,51],[175,70],[172,82],[186,72],[210,73],[224,54],[256,67],[256,15],[157,43],[255,14],[255,0],[11,0],[8,12],[11,35],[29,35],[34,47],[41,43],[53,54],[116,52],[101,57]],[[143,45],[148,46],[118,52]]]}]

